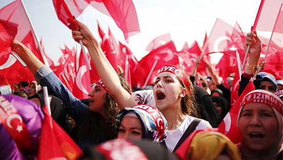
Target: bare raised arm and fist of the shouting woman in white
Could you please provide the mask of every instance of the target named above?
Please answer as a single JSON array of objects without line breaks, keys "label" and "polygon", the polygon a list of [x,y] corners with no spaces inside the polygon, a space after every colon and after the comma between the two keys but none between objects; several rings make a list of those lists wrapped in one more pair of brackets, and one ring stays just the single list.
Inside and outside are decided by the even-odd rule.
[{"label": "bare raised arm and fist of the shouting woman in white", "polygon": [[72,35],[74,40],[82,40],[83,44],[87,47],[91,59],[95,65],[99,77],[102,79],[104,85],[109,90],[117,104],[123,109],[124,107],[133,107],[136,102],[132,99],[131,95],[120,84],[119,77],[114,68],[107,60],[97,40],[91,34],[87,26],[82,22],[77,21],[79,29],[73,29]]}]

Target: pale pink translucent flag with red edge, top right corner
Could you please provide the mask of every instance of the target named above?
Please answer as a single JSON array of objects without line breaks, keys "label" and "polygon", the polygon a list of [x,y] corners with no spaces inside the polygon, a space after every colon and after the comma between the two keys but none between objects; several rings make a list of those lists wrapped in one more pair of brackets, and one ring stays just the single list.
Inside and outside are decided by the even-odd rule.
[{"label": "pale pink translucent flag with red edge, top right corner", "polygon": [[[272,32],[282,3],[282,0],[261,0],[252,31]],[[281,33],[283,32],[281,31]]]}]

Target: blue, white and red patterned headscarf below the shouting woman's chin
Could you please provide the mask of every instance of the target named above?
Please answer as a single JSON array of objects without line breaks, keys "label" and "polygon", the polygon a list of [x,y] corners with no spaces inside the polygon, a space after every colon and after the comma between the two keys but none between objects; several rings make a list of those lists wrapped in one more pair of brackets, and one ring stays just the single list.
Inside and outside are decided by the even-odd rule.
[{"label": "blue, white and red patterned headscarf below the shouting woman's chin", "polygon": [[167,121],[158,109],[149,105],[136,105],[133,108],[126,107],[118,114],[117,129],[123,117],[129,112],[133,112],[139,119],[143,139],[152,140],[153,143],[157,144],[164,141],[167,132]]}]

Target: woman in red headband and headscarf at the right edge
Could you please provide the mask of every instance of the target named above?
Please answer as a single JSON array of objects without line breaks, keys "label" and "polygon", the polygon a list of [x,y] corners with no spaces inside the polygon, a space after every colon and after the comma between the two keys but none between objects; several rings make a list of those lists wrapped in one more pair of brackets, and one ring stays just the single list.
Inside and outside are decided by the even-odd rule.
[{"label": "woman in red headband and headscarf at the right edge", "polygon": [[253,90],[241,101],[238,145],[242,159],[282,159],[283,102],[266,90]]}]

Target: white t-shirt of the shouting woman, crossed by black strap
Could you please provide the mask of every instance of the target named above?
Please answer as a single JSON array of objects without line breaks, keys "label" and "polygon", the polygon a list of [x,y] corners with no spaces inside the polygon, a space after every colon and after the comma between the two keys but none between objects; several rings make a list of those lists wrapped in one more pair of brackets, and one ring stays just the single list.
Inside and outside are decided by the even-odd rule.
[{"label": "white t-shirt of the shouting woman, crossed by black strap", "polygon": [[[186,129],[189,127],[189,125],[193,122],[194,119],[196,118],[187,115],[178,128],[167,131],[167,138],[165,139],[165,143],[170,152],[173,152],[175,146],[181,139],[181,136],[185,133]],[[199,124],[196,126],[195,130],[203,129],[207,127],[211,127],[209,122],[205,120],[201,120]]]}]

